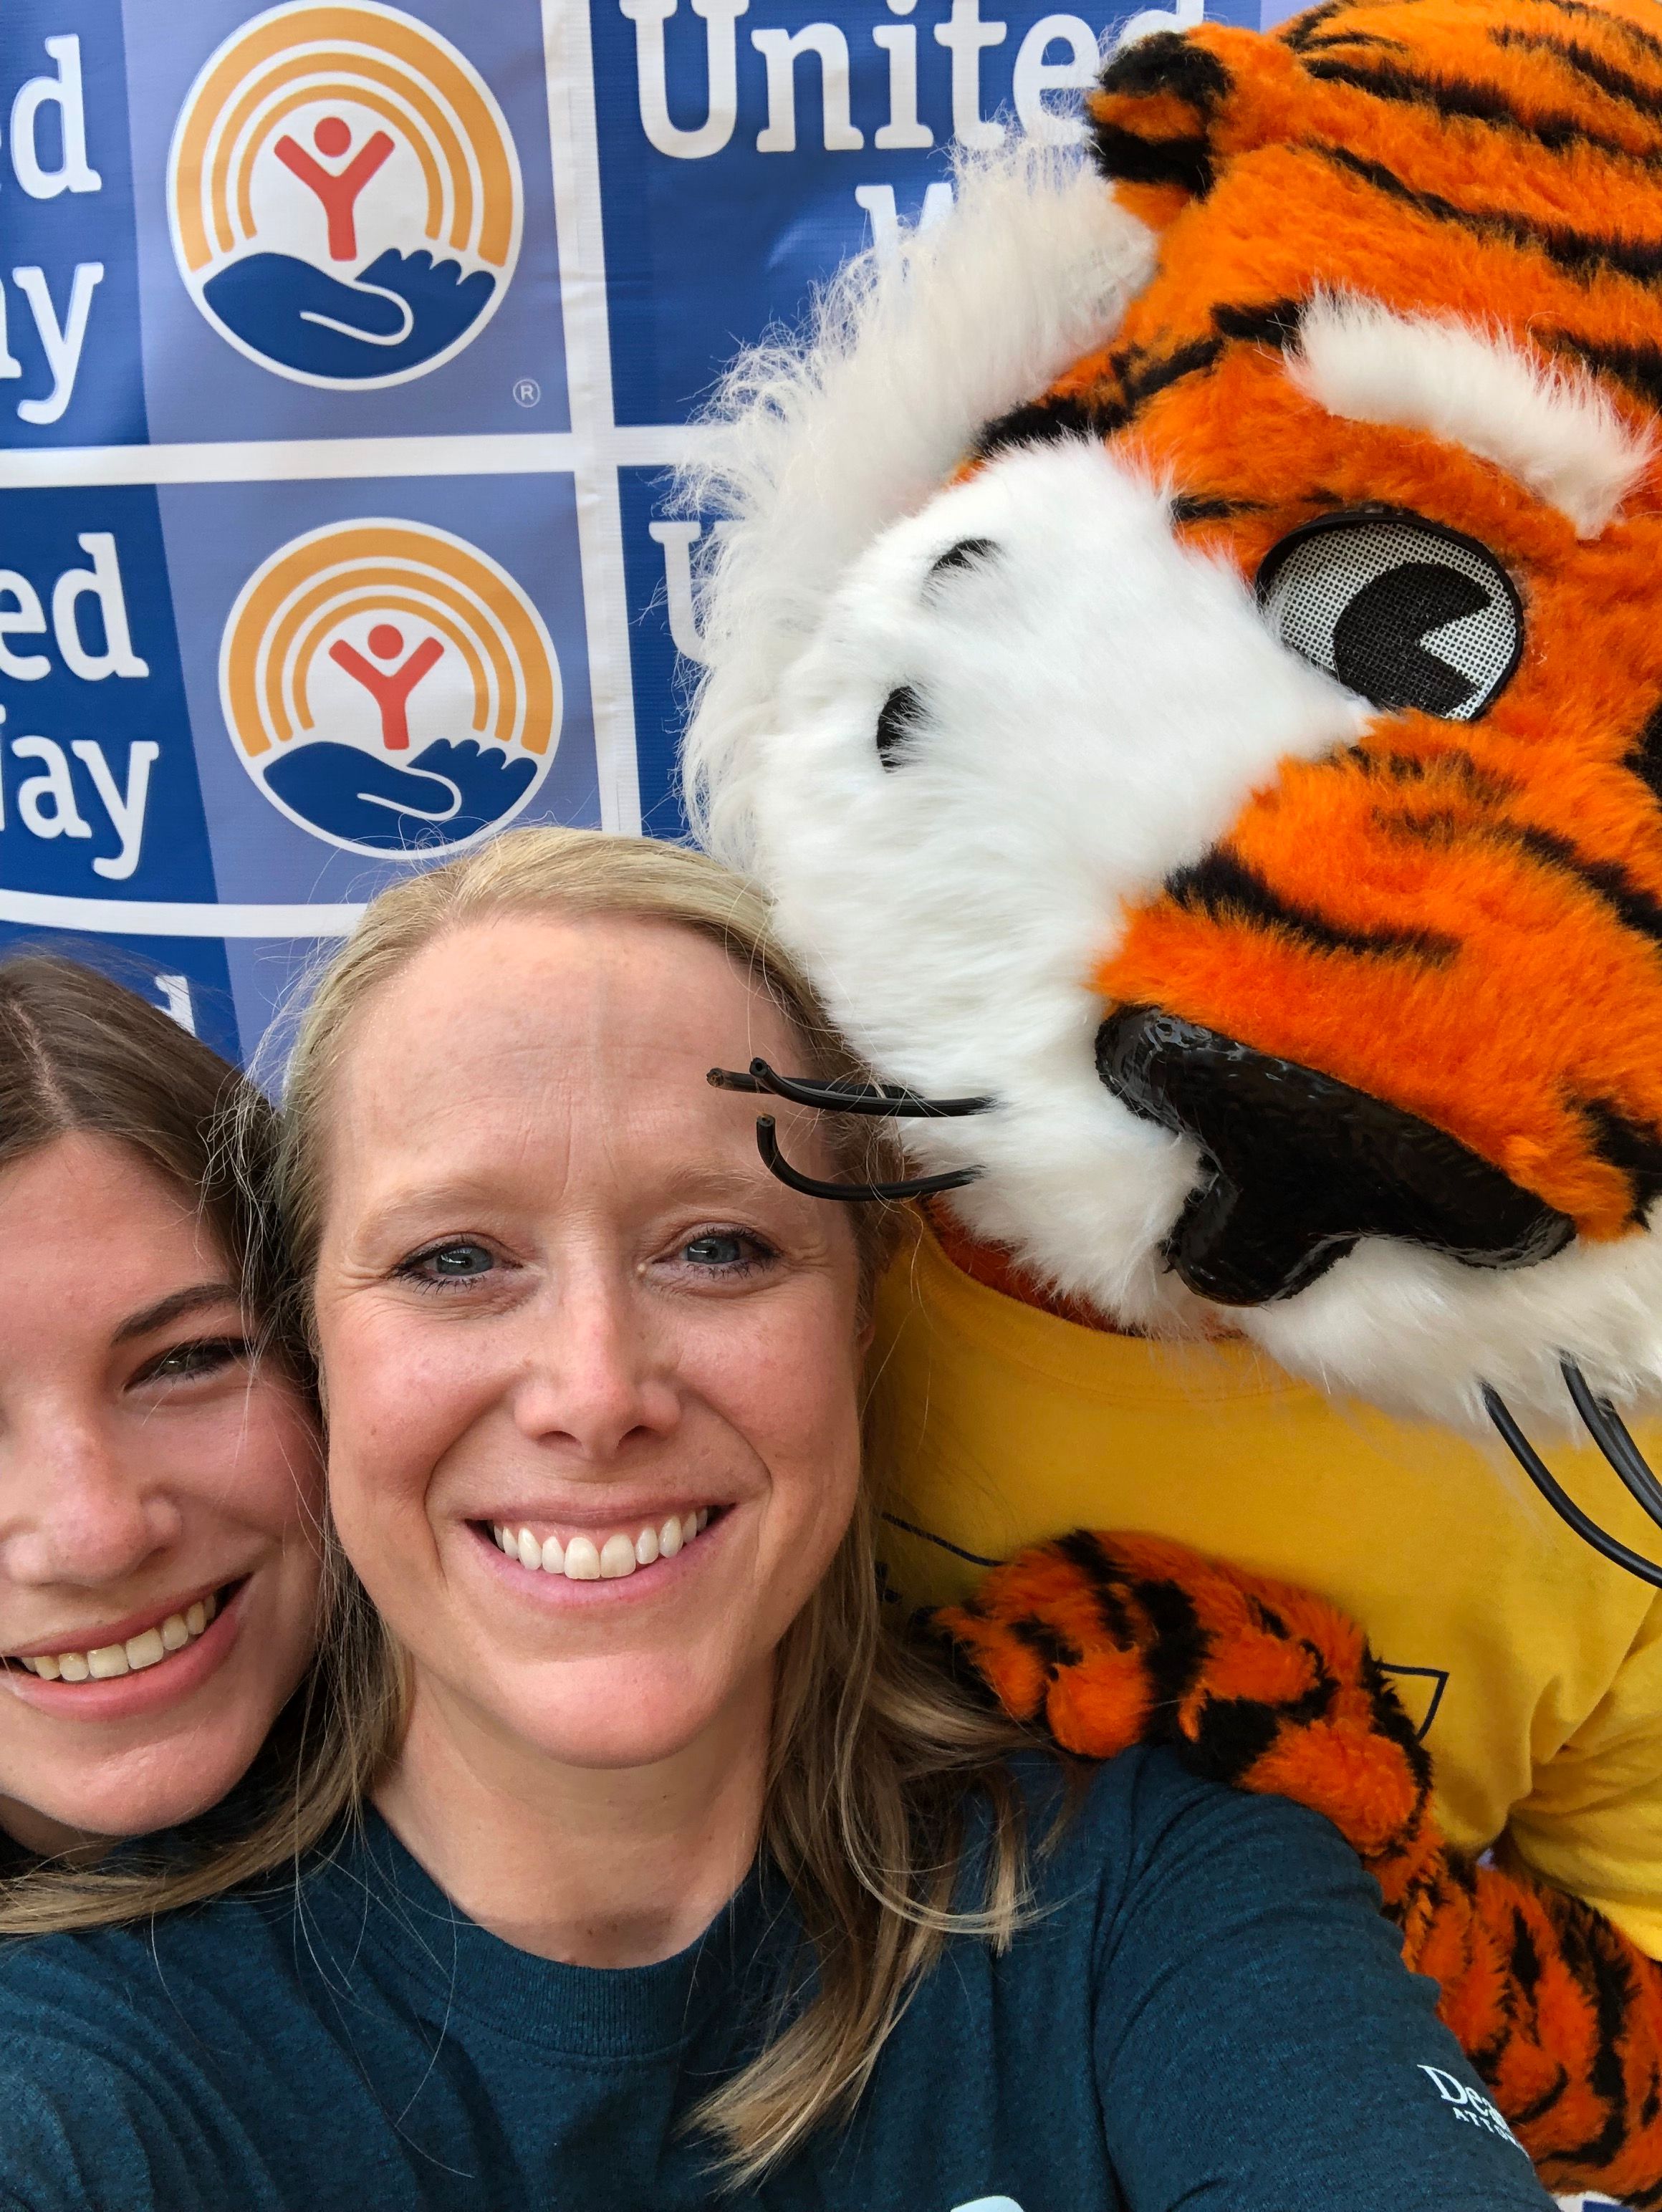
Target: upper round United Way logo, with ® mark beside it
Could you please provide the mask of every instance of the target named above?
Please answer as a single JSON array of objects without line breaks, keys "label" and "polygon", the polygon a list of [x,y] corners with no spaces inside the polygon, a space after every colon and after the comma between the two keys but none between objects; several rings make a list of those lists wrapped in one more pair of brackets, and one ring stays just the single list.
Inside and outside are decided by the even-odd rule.
[{"label": "upper round United Way logo, with \u00ae mark beside it", "polygon": [[241,354],[374,389],[458,354],[520,252],[520,164],[491,88],[374,0],[255,15],[201,69],[168,157],[173,250]]}]

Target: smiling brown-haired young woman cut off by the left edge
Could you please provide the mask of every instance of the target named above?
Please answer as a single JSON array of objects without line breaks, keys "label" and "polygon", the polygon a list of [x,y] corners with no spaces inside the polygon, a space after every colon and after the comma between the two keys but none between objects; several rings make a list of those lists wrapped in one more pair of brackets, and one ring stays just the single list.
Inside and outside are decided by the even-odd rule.
[{"label": "smiling brown-haired young woman cut off by the left edge", "polygon": [[0,964],[0,1931],[75,1918],[113,1838],[224,1798],[310,1661],[321,1469],[272,1336],[272,1144],[137,993]]}]

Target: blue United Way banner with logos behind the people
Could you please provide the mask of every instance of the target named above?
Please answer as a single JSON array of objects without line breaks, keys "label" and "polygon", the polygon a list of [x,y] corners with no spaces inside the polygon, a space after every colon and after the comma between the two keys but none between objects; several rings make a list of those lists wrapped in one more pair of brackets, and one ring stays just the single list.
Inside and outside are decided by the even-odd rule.
[{"label": "blue United Way banner with logos behind the people", "polygon": [[677,834],[713,380],[1129,15],[7,0],[0,940],[248,1055],[407,869]]}]

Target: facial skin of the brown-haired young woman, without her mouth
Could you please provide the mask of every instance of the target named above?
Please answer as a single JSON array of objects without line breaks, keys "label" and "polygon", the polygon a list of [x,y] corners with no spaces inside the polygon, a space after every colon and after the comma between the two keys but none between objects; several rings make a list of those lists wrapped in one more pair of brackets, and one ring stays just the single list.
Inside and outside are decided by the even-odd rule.
[{"label": "facial skin of the brown-haired young woman, without her mouth", "polygon": [[321,1471],[303,1394],[248,1358],[235,1296],[117,1340],[228,1272],[193,1201],[104,1137],[0,1175],[0,1650],[86,1648],[100,1624],[248,1577],[224,1661],[162,1710],[77,1719],[0,1674],[0,1825],[31,1849],[217,1803],[310,1659]]}]

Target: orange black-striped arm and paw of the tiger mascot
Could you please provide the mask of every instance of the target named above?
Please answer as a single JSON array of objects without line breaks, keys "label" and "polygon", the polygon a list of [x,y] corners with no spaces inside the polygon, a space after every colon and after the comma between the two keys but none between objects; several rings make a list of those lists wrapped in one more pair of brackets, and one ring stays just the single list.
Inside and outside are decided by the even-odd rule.
[{"label": "orange black-striped arm and paw of the tiger mascot", "polygon": [[1443,1843],[1425,1754],[1337,1608],[1162,1537],[1080,1531],[938,1619],[1062,1750],[1164,1743],[1326,1814],[1547,2185],[1662,2205],[1662,1966],[1591,1907]]}]

